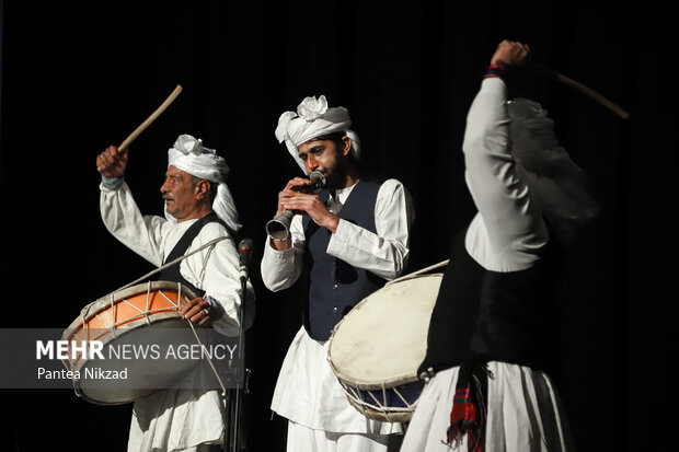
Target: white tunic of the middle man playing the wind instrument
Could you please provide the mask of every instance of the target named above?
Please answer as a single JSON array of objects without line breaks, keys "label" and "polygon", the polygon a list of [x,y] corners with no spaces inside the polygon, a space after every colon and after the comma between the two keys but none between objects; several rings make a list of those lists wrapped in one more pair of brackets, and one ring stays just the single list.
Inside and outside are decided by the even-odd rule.
[{"label": "white tunic of the middle man playing the wind instrument", "polygon": [[[329,209],[337,213],[354,186],[337,190]],[[345,220],[332,234],[327,254],[385,279],[401,275],[407,264],[414,210],[410,195],[395,179],[385,181],[375,206],[376,232]],[[290,224],[291,247],[277,251],[268,239],[262,259],[262,279],[273,291],[290,287],[302,270],[302,217]],[[272,409],[290,421],[315,430],[350,433],[396,433],[399,424],[369,420],[349,405],[346,393],[327,363],[327,341],[317,341],[301,327],[284,360]]]}]

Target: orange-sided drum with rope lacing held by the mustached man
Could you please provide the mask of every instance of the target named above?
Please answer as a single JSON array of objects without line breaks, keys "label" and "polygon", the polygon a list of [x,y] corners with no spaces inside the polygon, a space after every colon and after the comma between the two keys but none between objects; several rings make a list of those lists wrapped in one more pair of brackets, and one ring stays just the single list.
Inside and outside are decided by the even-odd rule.
[{"label": "orange-sided drum with rope lacing held by the mustached man", "polygon": [[[189,322],[179,312],[194,298],[177,282],[149,281],[83,308],[61,336],[69,349],[62,362],[76,394],[93,404],[119,405],[171,387],[197,361],[158,359],[153,354],[160,355],[161,344],[166,349],[196,341]],[[99,355],[80,351],[92,341],[102,346]]]}]

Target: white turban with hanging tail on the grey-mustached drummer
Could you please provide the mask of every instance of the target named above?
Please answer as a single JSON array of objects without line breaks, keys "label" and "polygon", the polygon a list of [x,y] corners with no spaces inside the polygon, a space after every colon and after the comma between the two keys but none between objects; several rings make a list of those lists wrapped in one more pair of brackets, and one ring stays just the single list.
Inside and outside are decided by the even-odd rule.
[{"label": "white turban with hanging tail on the grey-mustached drummer", "polygon": [[[192,176],[219,184],[212,201],[212,210],[233,231],[241,229],[235,204],[231,190],[227,186],[229,166],[226,160],[217,155],[214,149],[204,148],[203,141],[191,135],[180,135],[173,147],[168,151],[168,166],[174,166]],[[166,210],[165,217],[169,220],[176,221]]]}]

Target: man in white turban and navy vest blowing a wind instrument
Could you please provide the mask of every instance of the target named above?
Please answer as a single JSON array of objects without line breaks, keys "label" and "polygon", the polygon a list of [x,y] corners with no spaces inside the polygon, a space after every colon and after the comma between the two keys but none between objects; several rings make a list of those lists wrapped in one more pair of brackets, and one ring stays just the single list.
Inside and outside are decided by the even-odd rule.
[{"label": "man in white turban and navy vest blowing a wind instrument", "polygon": [[[272,291],[310,273],[302,326],[292,340],[272,409],[288,419],[288,451],[398,450],[402,426],[366,419],[355,409],[327,363],[333,327],[361,299],[402,274],[414,210],[403,184],[369,177],[360,167],[358,136],[344,107],[306,97],[276,128],[279,142],[304,174],[320,172],[325,187],[295,177],[278,195],[276,217],[294,211],[284,240],[266,239],[262,279]],[[309,268],[304,268],[306,255]]]}]

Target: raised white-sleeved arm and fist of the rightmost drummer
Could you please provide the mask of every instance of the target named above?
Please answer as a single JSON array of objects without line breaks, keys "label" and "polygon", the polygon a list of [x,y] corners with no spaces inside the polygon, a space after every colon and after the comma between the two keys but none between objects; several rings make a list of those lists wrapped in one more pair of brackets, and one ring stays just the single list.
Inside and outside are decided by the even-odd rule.
[{"label": "raised white-sleeved arm and fist of the rightmost drummer", "polygon": [[[491,67],[499,76],[507,70],[505,65],[520,67],[529,55],[527,46],[503,42]],[[487,267],[516,270],[534,262],[546,241],[546,230],[539,202],[511,154],[507,86],[502,77],[493,76],[491,72],[483,80],[467,118],[465,177],[480,212],[471,228],[471,234],[477,236],[468,236],[468,243],[480,243],[475,257]]]}]

